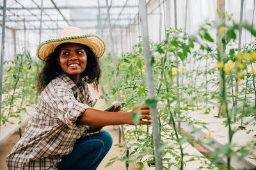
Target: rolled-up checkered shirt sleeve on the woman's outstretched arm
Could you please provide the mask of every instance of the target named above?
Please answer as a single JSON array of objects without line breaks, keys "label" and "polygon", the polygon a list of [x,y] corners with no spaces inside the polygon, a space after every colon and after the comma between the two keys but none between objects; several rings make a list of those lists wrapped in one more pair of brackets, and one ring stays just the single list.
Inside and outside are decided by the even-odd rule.
[{"label": "rolled-up checkered shirt sleeve on the woman's outstretched arm", "polygon": [[55,96],[52,97],[52,104],[57,117],[68,125],[71,129],[78,129],[80,124],[76,124],[76,120],[84,111],[91,108],[87,104],[79,103],[71,89],[67,87],[57,87]]}]

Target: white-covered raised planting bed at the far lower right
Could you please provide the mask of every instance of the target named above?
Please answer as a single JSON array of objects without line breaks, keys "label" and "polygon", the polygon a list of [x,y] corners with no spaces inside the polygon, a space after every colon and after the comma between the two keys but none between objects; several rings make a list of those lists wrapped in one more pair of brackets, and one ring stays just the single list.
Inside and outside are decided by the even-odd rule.
[{"label": "white-covered raised planting bed at the far lower right", "polygon": [[[216,148],[220,148],[223,145],[226,145],[228,143],[228,127],[225,127],[225,124],[223,121],[227,120],[227,118],[218,118],[214,117],[218,113],[216,111],[212,111],[209,114],[203,113],[204,111],[196,110],[196,111],[189,111],[189,117],[194,118],[198,122],[205,122],[207,125],[207,129],[202,129],[198,125],[192,124],[189,125],[188,122],[180,122],[180,126],[183,129],[183,131],[189,133],[191,131],[195,131],[195,129],[198,129],[198,131],[195,133],[194,138],[196,140],[204,141],[202,142],[202,146],[208,150],[209,152],[212,152],[216,150]],[[244,118],[244,122],[253,122],[253,118]],[[176,122],[176,124],[178,124]],[[232,129],[237,129],[241,125],[241,122],[237,122],[232,124]],[[252,127],[250,125],[244,125],[247,130],[251,129],[256,131],[255,127]],[[209,135],[209,132],[211,133]],[[253,155],[256,154],[255,147],[252,146],[252,143],[256,141],[256,138],[254,137],[254,134],[256,132],[250,132],[249,134],[246,133],[246,130],[239,130],[234,134],[234,137],[232,139],[232,148],[234,150],[238,150],[241,148],[241,146],[249,145],[250,150],[253,151]],[[211,145],[206,145],[206,143],[211,143]],[[233,154],[231,158],[231,166],[235,169],[237,168],[247,168],[247,169],[255,169],[256,167],[256,157],[253,155],[249,155],[244,157],[242,160],[239,160],[239,157],[241,156],[239,153]],[[223,159],[223,162],[227,163],[227,159]]]}]

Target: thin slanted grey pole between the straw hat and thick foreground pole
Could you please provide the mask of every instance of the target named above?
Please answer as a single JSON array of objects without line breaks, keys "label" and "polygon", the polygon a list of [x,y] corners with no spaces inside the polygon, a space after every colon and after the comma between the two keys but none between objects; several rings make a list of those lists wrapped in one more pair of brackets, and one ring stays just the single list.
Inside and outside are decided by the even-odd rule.
[{"label": "thin slanted grey pole between the straw hat and thick foreground pole", "polygon": [[[113,59],[113,67],[114,67],[114,74],[115,74],[115,85],[116,88],[118,89],[119,85],[118,85],[118,80],[117,80],[117,72],[116,72],[116,58],[115,58],[115,50],[114,50],[114,41],[113,41],[113,36],[112,36],[112,29],[111,29],[111,23],[110,23],[110,15],[109,15],[109,6],[108,6],[108,0],[106,0],[106,7],[107,7],[107,12],[108,12],[108,27],[109,27],[109,36],[110,36],[110,46],[111,46],[111,55],[112,55],[112,59]],[[117,91],[117,100],[120,101],[120,93],[119,91]]]}]

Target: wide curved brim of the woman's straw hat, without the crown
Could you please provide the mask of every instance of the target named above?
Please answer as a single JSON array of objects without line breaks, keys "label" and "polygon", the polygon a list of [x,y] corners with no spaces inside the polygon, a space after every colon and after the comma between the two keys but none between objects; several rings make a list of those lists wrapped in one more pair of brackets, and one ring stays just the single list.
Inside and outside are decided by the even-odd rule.
[{"label": "wide curved brim of the woman's straw hat, without the crown", "polygon": [[83,36],[71,36],[44,41],[40,43],[36,50],[37,57],[44,61],[47,60],[47,56],[54,52],[55,48],[62,43],[86,45],[95,53],[95,57],[97,58],[101,57],[106,50],[106,43],[98,34],[86,34]]}]

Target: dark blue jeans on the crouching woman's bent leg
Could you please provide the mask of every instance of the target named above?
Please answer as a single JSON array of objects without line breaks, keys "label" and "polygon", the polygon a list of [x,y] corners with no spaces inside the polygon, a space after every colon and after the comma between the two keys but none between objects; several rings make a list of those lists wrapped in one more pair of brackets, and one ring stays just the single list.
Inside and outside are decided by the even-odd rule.
[{"label": "dark blue jeans on the crouching woman's bent leg", "polygon": [[96,169],[112,145],[112,137],[107,131],[77,139],[68,155],[63,155],[57,169]]}]

